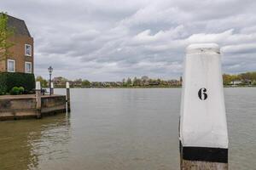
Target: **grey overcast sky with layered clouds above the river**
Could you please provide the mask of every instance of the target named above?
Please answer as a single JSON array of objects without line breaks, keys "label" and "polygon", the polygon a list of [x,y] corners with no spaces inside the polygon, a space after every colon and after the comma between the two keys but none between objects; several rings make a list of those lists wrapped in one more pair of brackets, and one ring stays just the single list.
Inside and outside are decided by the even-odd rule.
[{"label": "grey overcast sky with layered clouds above the river", "polygon": [[256,70],[254,0],[1,0],[26,21],[35,42],[35,73],[90,81],[176,78],[184,48],[217,42],[223,70]]}]

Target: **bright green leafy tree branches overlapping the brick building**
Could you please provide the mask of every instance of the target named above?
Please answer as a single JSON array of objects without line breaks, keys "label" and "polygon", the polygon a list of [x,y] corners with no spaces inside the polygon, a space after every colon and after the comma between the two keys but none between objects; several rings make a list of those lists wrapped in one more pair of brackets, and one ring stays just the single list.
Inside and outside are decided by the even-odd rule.
[{"label": "bright green leafy tree branches overlapping the brick building", "polygon": [[11,54],[9,48],[15,43],[10,42],[9,37],[12,37],[14,33],[15,29],[8,26],[8,15],[0,13],[0,60],[6,59]]}]

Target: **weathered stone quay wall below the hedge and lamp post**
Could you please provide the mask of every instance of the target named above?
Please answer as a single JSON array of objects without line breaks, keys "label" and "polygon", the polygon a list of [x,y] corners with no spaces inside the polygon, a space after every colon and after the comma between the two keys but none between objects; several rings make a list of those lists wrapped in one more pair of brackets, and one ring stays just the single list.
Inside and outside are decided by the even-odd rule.
[{"label": "weathered stone quay wall below the hedge and lamp post", "polygon": [[[43,95],[41,100],[43,117],[66,113],[65,95]],[[35,95],[0,96],[0,121],[36,118],[37,114]]]}]

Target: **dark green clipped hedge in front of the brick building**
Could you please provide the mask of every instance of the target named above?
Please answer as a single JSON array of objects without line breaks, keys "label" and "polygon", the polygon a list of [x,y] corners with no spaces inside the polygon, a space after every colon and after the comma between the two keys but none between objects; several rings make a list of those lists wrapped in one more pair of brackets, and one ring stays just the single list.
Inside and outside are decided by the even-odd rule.
[{"label": "dark green clipped hedge in front of the brick building", "polygon": [[7,94],[14,87],[23,87],[24,93],[31,93],[35,88],[34,74],[21,72],[1,72],[0,73],[0,94]]}]

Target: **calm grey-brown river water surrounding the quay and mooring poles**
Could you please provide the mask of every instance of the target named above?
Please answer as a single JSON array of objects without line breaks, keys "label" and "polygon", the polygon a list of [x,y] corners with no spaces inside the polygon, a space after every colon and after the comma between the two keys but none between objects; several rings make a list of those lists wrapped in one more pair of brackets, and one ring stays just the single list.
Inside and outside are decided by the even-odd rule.
[{"label": "calm grey-brown river water surrounding the quay and mooring poles", "polygon": [[[256,88],[224,93],[230,169],[255,170]],[[71,94],[70,114],[0,122],[1,170],[179,169],[181,88],[86,88]]]}]

